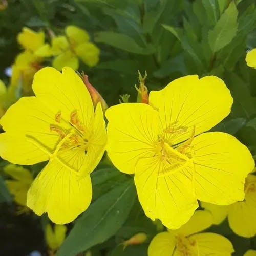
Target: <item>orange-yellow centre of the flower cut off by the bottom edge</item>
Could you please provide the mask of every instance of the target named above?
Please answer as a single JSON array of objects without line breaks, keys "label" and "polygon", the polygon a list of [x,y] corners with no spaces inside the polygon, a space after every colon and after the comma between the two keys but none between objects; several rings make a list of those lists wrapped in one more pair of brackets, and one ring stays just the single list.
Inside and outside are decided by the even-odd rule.
[{"label": "orange-yellow centre of the flower cut off by the bottom edge", "polygon": [[176,250],[180,255],[194,256],[197,254],[197,241],[190,237],[178,236],[176,237]]}]

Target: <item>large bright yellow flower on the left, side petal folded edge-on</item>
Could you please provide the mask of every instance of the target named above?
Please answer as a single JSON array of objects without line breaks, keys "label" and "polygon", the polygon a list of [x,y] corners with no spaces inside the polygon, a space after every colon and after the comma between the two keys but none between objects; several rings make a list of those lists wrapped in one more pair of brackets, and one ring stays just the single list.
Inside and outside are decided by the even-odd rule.
[{"label": "large bright yellow flower on the left, side petal folded edge-on", "polygon": [[101,104],[71,69],[43,68],[34,76],[36,97],[20,98],[0,120],[0,155],[30,165],[50,160],[28,191],[27,206],[64,224],[86,210],[92,198],[90,173],[106,143]]}]

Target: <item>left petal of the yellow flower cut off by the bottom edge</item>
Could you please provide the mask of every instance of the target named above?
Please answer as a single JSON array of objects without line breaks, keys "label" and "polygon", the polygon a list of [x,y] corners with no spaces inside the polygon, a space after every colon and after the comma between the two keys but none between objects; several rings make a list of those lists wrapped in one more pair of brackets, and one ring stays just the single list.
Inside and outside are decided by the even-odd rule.
[{"label": "left petal of the yellow flower cut off by the bottom edge", "polygon": [[170,256],[173,255],[176,239],[169,232],[158,233],[150,242],[148,256]]}]

